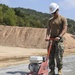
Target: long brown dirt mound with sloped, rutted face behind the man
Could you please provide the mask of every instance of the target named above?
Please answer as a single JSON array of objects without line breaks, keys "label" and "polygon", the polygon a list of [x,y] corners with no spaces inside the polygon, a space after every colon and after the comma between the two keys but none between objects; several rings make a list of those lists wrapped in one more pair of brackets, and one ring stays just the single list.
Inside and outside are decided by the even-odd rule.
[{"label": "long brown dirt mound with sloped, rutted face behind the man", "polygon": [[[46,29],[17,27],[17,26],[0,26],[0,45],[15,46],[25,48],[47,48],[45,41]],[[75,39],[71,34],[66,34],[66,48],[75,47]]]}]

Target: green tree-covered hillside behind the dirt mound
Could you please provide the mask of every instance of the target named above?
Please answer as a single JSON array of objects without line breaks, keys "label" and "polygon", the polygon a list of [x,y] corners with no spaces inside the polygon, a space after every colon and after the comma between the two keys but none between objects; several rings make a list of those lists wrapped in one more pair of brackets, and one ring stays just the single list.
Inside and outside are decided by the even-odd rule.
[{"label": "green tree-covered hillside behind the dirt mound", "polygon": [[[0,25],[45,28],[50,17],[50,14],[32,9],[10,8],[0,4]],[[68,32],[75,34],[75,21],[68,19],[68,24]]]}]

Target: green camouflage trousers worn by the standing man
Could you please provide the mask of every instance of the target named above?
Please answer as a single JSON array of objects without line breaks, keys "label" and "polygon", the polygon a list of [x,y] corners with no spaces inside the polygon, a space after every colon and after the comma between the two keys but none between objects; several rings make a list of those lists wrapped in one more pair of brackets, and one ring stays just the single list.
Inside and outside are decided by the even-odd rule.
[{"label": "green camouflage trousers worn by the standing man", "polygon": [[[50,42],[49,42],[50,45]],[[48,45],[48,48],[49,48]],[[51,70],[55,69],[55,60],[58,69],[63,67],[63,53],[64,53],[64,44],[63,42],[54,41],[52,43],[52,48],[49,57],[49,68]]]}]

